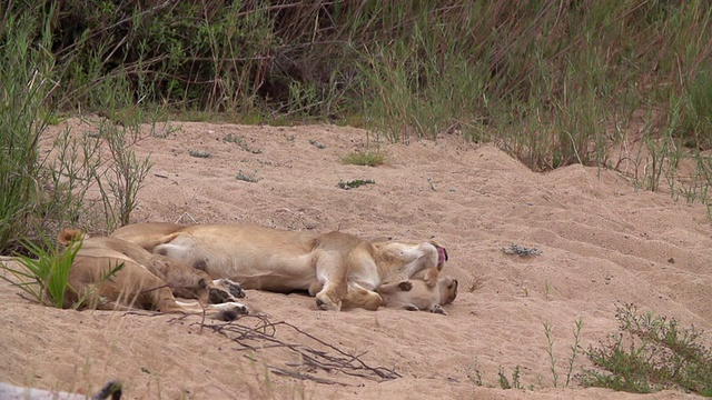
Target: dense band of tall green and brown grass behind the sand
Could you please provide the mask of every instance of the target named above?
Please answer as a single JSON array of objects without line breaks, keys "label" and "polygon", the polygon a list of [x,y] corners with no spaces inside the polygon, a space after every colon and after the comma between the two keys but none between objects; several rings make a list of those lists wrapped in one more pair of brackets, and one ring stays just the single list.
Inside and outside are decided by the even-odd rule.
[{"label": "dense band of tall green and brown grass behind the sand", "polygon": [[[23,201],[36,183],[12,177],[40,173],[52,112],[131,124],[144,110],[336,121],[393,141],[457,133],[534,170],[613,168],[709,202],[706,1],[46,0],[3,16],[0,189]],[[695,166],[683,183],[680,162]]]}]

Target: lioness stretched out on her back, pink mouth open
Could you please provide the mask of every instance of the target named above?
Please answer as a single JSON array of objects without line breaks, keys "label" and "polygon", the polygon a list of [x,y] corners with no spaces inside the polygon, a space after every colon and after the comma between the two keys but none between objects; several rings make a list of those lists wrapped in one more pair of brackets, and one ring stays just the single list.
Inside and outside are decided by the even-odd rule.
[{"label": "lioness stretched out on her back, pink mouth open", "polygon": [[[375,291],[382,281],[431,268],[439,271],[447,260],[445,249],[432,242],[372,243],[344,232],[317,234],[249,224],[139,223],[111,236],[182,260],[214,278],[233,279],[245,289],[307,290],[324,310],[342,306],[375,310],[382,304]],[[437,276],[428,277],[435,284]]]}]

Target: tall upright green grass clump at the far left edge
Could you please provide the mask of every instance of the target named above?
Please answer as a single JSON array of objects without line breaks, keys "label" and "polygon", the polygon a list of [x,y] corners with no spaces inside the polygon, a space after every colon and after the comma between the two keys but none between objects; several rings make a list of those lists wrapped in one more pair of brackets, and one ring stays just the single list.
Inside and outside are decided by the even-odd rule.
[{"label": "tall upright green grass clump at the far left edge", "polygon": [[[33,29],[39,26],[38,31]],[[9,14],[0,30],[0,251],[17,248],[41,202],[38,141],[53,89],[49,20]]]}]

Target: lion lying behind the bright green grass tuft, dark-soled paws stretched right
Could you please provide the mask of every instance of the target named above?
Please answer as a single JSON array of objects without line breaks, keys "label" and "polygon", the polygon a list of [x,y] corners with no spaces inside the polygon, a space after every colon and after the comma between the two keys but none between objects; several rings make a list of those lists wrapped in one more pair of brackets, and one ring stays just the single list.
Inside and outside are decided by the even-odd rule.
[{"label": "lion lying behind the bright green grass tuft, dark-soled paws stretched right", "polygon": [[[79,236],[81,232],[77,230],[63,230],[58,241],[69,247],[79,246],[76,241]],[[121,269],[107,279],[109,272],[119,266],[122,266]],[[215,297],[234,300],[230,293],[226,294],[224,289],[216,287],[204,272],[115,238],[83,239],[69,271],[68,283],[65,308],[82,301],[83,306],[100,310],[202,312],[200,304],[176,301],[171,290],[192,294],[204,303],[215,300]],[[206,311],[208,316],[222,320],[248,312],[238,302],[207,304]]]}]

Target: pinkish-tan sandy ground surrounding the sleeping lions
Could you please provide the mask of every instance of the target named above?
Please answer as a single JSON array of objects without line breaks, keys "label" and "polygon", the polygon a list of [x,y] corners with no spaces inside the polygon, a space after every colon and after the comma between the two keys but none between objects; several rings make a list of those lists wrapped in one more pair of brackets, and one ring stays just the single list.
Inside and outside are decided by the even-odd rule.
[{"label": "pinkish-tan sandy ground surrounding the sleeping lions", "polygon": [[[78,120],[67,124],[73,134],[93,129]],[[154,163],[135,222],[253,222],[374,240],[435,238],[449,252],[444,271],[461,283],[449,316],[324,312],[305,296],[248,291],[250,308],[287,323],[266,328],[260,332],[268,338],[260,338],[248,330],[264,323],[257,318],[236,322],[247,333],[236,326],[220,333],[201,328],[199,317],[50,309],[0,282],[0,381],[90,392],[119,379],[128,399],[636,399],[584,389],[573,379],[563,388],[576,320],[583,320],[583,348],[616,332],[616,301],[712,331],[705,208],[636,191],[614,172],[571,166],[533,173],[494,147],[457,137],[382,143],[386,164],[348,166],[339,157],[364,149],[367,139],[375,147],[375,137],[329,126],[174,122],[158,133],[167,136],[147,130],[135,144]],[[227,136],[241,143],[224,141]],[[238,180],[239,171],[259,181]],[[337,187],[355,179],[376,183]],[[502,248],[512,243],[542,254],[507,256]],[[544,323],[553,331],[556,388]],[[712,341],[710,334],[704,340]],[[365,367],[327,370],[319,367],[325,358],[309,362],[310,350],[342,361],[356,356],[349,366],[359,360]],[[511,377],[517,366],[527,390],[500,389],[500,368]],[[574,372],[582,367],[591,364],[580,356]],[[471,380],[475,370],[482,387]]]}]

